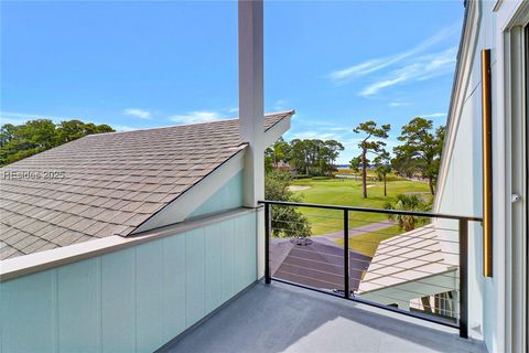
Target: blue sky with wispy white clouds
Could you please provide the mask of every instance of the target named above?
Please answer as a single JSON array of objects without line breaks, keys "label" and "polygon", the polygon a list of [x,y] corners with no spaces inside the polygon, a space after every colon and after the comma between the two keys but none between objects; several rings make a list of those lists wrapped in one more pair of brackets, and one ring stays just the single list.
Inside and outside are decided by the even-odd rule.
[{"label": "blue sky with wispy white clouds", "polygon": [[[267,111],[288,139],[342,141],[415,116],[446,120],[463,1],[270,1]],[[237,116],[236,2],[1,2],[1,122],[80,118],[116,129]]]}]

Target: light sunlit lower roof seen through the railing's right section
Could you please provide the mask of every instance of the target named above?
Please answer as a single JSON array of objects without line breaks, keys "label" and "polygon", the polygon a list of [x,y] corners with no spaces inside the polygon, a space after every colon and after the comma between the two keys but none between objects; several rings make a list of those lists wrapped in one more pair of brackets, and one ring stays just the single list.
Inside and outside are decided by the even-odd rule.
[{"label": "light sunlit lower roof seen through the railing's right section", "polygon": [[[359,295],[417,281],[454,270],[433,225],[427,225],[380,242],[360,282]],[[439,288],[439,292],[447,291]]]}]

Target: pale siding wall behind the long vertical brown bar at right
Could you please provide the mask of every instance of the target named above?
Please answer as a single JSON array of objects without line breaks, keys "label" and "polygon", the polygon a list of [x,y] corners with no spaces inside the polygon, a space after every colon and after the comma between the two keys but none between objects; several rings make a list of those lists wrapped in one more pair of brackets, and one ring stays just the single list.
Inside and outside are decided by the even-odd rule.
[{"label": "pale siding wall behind the long vertical brown bar at right", "polygon": [[[464,107],[461,119],[456,128],[456,138],[453,153],[447,165],[449,172],[446,179],[440,180],[443,183],[436,212],[451,213],[460,215],[478,215],[483,214],[483,181],[482,181],[482,73],[481,73],[481,50],[492,49],[492,73],[493,73],[493,106],[495,105],[496,84],[497,84],[497,58],[496,51],[496,17],[493,13],[493,1],[482,2],[482,19],[478,30],[478,39],[476,52],[473,58],[472,75],[469,84],[464,95]],[[497,103],[497,100],[496,100]],[[498,115],[500,108],[493,107],[493,131],[503,131],[498,126],[504,124],[503,115]],[[451,117],[456,119],[456,117]],[[495,146],[493,137],[493,146]],[[494,160],[498,161],[503,157],[498,145],[493,147]],[[496,175],[503,173],[503,170],[494,168],[496,179],[494,188],[499,190]],[[454,222],[439,222],[440,225],[456,227]],[[495,236],[500,236],[499,232],[495,232]],[[450,238],[449,232],[443,234],[445,238]],[[498,346],[497,340],[500,333],[498,325],[498,281],[497,278],[485,279],[483,277],[483,227],[481,224],[469,223],[468,238],[468,258],[469,258],[469,328],[471,335],[481,336],[483,333],[487,346]],[[494,248],[498,249],[497,239],[495,239]]]}]

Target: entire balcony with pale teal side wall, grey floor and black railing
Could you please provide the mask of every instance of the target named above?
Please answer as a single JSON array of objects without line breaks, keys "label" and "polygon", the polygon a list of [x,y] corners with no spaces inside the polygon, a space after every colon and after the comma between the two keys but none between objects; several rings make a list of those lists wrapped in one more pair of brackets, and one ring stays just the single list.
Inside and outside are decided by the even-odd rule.
[{"label": "entire balcony with pale teal side wall, grey floor and black railing", "polygon": [[[334,228],[289,237],[278,232],[285,225],[277,206],[326,210],[319,216]],[[268,247],[258,253],[263,213]],[[398,235],[357,226],[392,213],[431,222]],[[126,242],[20,257],[2,264],[2,344],[9,352],[486,352],[465,339],[475,298],[467,231],[478,221],[267,202],[264,212],[238,207]],[[389,237],[374,246],[366,232]],[[376,249],[369,256],[358,253],[366,243]]]}]

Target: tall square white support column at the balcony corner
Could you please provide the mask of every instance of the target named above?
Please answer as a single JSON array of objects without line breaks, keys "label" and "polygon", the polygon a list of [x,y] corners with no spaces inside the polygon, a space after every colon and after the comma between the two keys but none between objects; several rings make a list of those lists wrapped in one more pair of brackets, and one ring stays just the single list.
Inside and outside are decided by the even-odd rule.
[{"label": "tall square white support column at the balcony corner", "polygon": [[[264,199],[264,97],[262,0],[239,0],[239,119],[245,157],[245,205]],[[263,213],[258,213],[258,277],[264,274]]]}]

